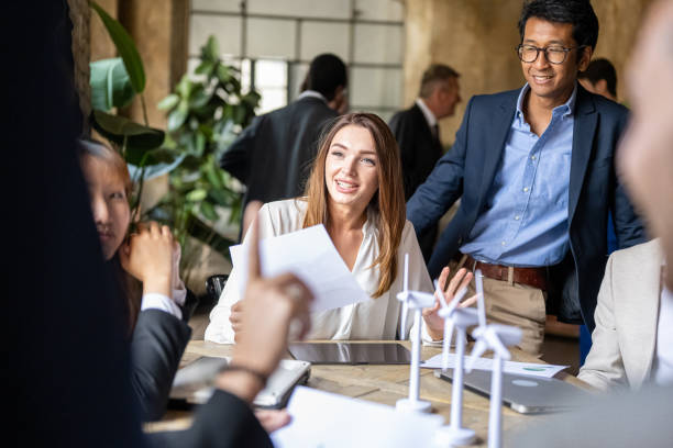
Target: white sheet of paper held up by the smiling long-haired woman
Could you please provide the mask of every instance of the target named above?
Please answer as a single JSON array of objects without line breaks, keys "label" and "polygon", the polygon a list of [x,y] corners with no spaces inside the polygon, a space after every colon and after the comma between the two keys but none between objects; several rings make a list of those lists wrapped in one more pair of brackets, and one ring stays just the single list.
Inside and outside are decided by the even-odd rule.
[{"label": "white sheet of paper held up by the smiling long-haired woman", "polygon": [[[247,283],[247,245],[230,247],[231,260],[238,269],[239,292],[243,296]],[[336,251],[322,224],[260,242],[264,276],[293,272],[313,293],[311,311],[332,310],[368,300],[353,273]]]}]

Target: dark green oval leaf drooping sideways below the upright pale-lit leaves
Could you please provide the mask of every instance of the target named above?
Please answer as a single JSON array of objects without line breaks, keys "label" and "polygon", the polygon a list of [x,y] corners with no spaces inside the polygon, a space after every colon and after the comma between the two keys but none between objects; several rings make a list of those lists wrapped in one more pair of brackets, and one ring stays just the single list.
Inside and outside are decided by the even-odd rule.
[{"label": "dark green oval leaf drooping sideways below the upright pale-lit leaves", "polygon": [[143,126],[123,116],[93,111],[91,123],[96,131],[118,145],[123,145],[125,137],[128,148],[156,149],[164,143],[164,131]]}]

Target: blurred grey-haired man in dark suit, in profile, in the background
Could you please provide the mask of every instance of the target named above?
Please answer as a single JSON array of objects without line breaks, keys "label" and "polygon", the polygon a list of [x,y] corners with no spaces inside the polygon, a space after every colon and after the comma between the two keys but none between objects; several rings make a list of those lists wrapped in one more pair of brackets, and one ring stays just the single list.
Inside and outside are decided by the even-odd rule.
[{"label": "blurred grey-haired man in dark suit, in profile, in the background", "polygon": [[[449,66],[431,65],[423,72],[413,105],[390,119],[390,130],[395,134],[402,161],[406,200],[426,181],[442,156],[439,121],[453,115],[455,104],[461,101],[459,76]],[[426,262],[432,255],[435,239],[437,225],[429,226],[418,237]]]}]

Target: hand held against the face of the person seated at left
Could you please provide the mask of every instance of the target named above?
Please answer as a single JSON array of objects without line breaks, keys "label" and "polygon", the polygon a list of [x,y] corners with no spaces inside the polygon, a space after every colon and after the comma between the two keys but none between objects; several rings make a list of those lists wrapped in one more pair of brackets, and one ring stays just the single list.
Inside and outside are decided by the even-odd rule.
[{"label": "hand held against the face of the person seated at left", "polygon": [[139,223],[137,233],[119,248],[122,267],[143,282],[143,294],[156,292],[172,296],[173,234],[155,222]]}]

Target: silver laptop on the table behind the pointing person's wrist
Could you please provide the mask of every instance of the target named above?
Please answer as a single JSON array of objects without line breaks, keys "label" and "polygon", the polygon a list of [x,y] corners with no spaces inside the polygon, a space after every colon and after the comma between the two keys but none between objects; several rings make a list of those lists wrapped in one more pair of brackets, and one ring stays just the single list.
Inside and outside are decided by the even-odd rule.
[{"label": "silver laptop on the table behind the pointing person's wrist", "polygon": [[[205,356],[178,370],[170,390],[169,405],[184,406],[206,403],[214,390],[213,381],[230,358]],[[297,384],[305,384],[311,365],[291,359],[280,360],[276,371],[268,378],[266,388],[255,397],[253,405],[262,408],[280,408]]]}]

